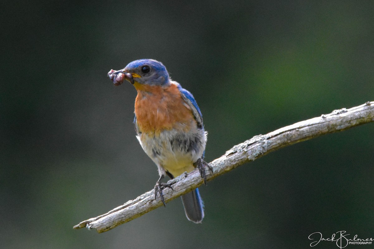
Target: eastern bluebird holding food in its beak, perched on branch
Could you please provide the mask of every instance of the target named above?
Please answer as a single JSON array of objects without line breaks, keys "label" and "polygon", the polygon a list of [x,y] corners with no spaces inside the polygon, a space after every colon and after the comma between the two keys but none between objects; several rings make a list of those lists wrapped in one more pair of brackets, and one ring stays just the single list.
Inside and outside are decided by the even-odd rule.
[{"label": "eastern bluebird holding food in its beak, perched on branch", "polygon": [[[196,100],[192,94],[171,80],[165,66],[151,59],[135,60],[124,69],[111,70],[108,76],[115,85],[128,80],[138,92],[135,99],[135,130],[144,152],[159,170],[155,198],[162,189],[170,187],[161,180],[168,175],[177,177],[198,167],[206,181],[202,158],[207,132]],[[203,202],[199,190],[182,196],[187,219],[201,223],[204,218]]]}]

